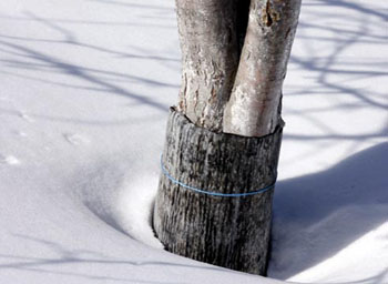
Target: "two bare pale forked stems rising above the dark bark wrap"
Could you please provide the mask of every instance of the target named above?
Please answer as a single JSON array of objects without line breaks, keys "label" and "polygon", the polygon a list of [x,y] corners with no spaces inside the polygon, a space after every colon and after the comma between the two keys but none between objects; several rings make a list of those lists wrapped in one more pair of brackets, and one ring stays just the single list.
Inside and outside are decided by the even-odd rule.
[{"label": "two bare pale forked stems rising above the dark bark wrap", "polygon": [[299,8],[300,0],[176,0],[178,110],[216,132],[273,132]]}]

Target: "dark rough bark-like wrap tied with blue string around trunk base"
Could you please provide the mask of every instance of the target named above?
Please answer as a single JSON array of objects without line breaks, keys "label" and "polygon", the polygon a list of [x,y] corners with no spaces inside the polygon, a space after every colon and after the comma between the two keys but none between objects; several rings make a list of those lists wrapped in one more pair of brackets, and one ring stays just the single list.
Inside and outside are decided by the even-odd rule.
[{"label": "dark rough bark-like wrap tied with blue string around trunk base", "polygon": [[264,275],[282,129],[215,133],[171,109],[154,230],[172,253]]}]

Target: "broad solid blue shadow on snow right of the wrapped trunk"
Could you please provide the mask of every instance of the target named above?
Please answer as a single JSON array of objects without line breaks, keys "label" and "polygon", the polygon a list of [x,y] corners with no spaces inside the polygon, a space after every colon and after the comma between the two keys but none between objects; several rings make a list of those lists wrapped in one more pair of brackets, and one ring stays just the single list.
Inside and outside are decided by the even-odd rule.
[{"label": "broad solid blue shadow on snow right of the wrapped trunk", "polygon": [[388,221],[387,158],[388,143],[381,143],[327,171],[278,182],[270,263],[282,272],[276,277],[329,258]]}]

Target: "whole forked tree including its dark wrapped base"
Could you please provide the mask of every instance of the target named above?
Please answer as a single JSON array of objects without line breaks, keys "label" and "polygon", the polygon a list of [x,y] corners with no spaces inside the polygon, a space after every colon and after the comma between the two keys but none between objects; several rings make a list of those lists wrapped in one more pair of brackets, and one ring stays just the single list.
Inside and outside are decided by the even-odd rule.
[{"label": "whole forked tree including its dark wrapped base", "polygon": [[265,274],[300,0],[176,0],[182,87],[153,224],[167,251]]}]

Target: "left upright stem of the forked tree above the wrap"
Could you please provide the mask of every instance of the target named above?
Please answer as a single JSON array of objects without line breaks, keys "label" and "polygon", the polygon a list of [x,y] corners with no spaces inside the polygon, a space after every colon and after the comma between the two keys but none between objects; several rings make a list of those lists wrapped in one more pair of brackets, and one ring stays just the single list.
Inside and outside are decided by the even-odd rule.
[{"label": "left upright stem of the forked tree above the wrap", "polygon": [[[222,131],[239,57],[237,0],[176,0],[182,50],[178,110],[198,126]],[[239,30],[243,30],[241,28]]]}]

